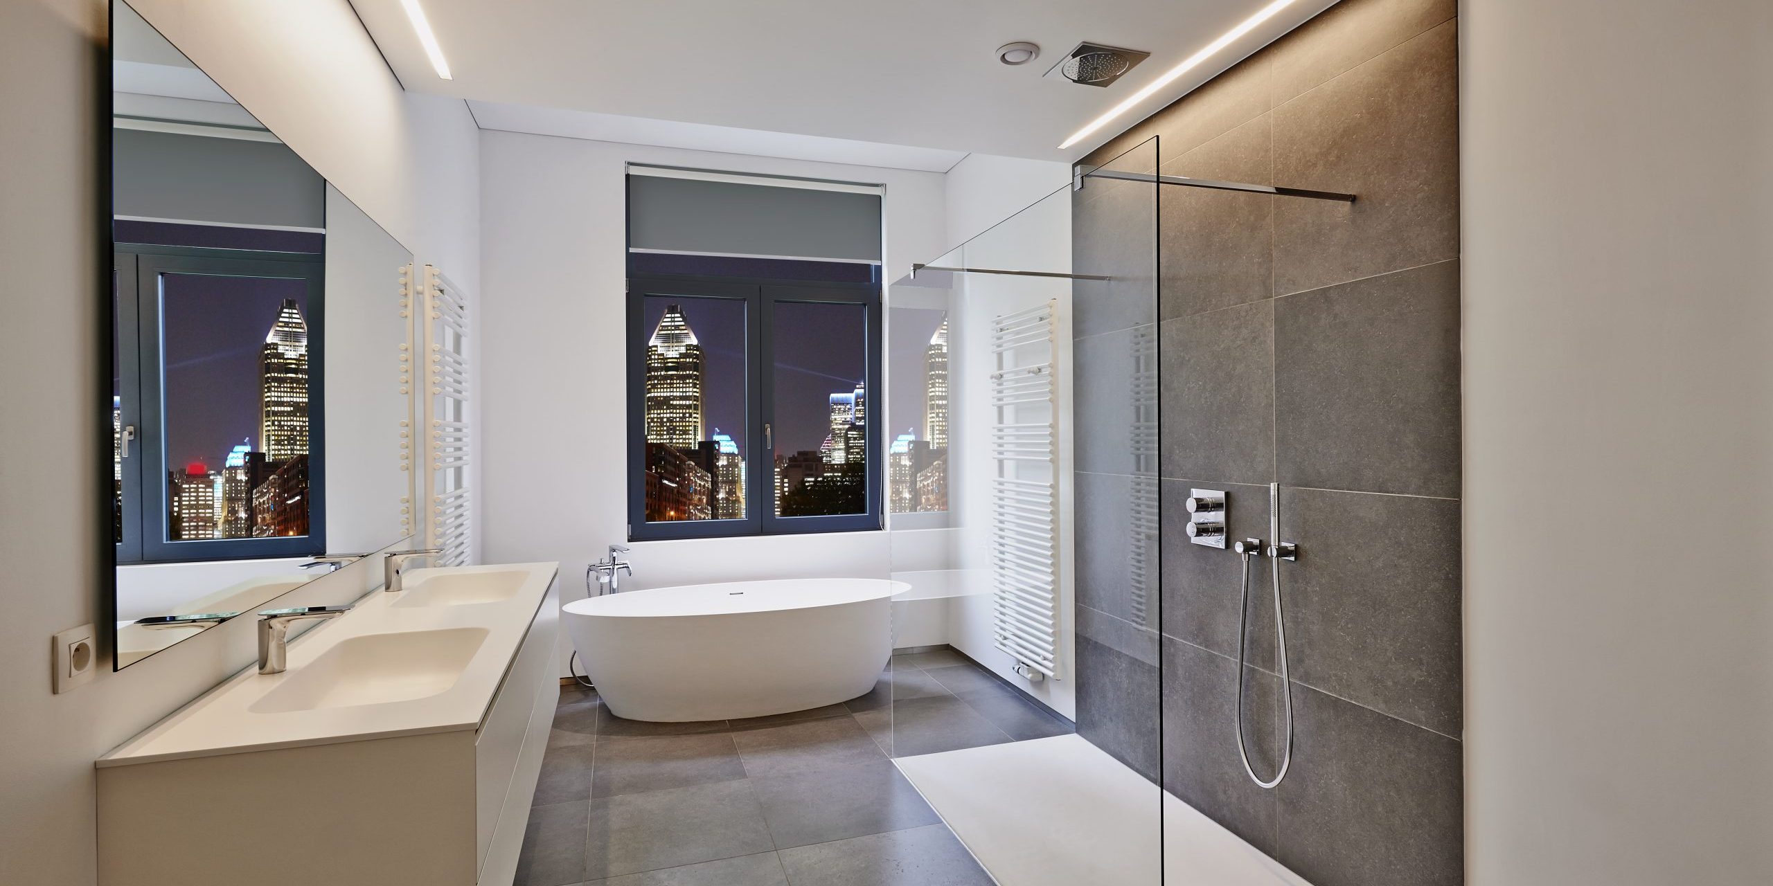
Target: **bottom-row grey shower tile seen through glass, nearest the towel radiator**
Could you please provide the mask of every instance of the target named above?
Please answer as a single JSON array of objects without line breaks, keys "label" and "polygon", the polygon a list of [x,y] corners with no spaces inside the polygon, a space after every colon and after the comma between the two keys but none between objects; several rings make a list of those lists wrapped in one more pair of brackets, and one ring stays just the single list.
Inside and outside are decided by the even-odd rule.
[{"label": "bottom-row grey shower tile seen through glass, nearest the towel radiator", "polygon": [[1158,781],[1158,668],[1080,636],[1078,735]]}]

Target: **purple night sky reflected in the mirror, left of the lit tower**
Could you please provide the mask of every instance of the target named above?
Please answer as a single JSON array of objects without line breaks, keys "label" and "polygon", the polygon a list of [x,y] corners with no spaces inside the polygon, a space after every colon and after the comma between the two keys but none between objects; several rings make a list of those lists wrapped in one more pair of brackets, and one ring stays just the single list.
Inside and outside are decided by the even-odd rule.
[{"label": "purple night sky reflected in the mirror, left of the lit tower", "polygon": [[[307,317],[307,284],[262,276],[165,275],[167,468],[222,459],[259,439],[259,349],[285,298]],[[314,330],[309,330],[314,335]]]}]

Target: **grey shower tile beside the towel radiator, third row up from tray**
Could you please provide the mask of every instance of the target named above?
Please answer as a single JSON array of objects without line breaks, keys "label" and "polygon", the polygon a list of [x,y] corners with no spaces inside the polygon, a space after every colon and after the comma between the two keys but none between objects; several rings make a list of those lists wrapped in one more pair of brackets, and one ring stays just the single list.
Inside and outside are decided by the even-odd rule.
[{"label": "grey shower tile beside the towel radiator, third row up from tray", "polygon": [[1151,340],[1156,326],[1090,335],[1073,342],[1073,468],[1080,471],[1135,471],[1133,424],[1138,418],[1135,397],[1140,397],[1133,386],[1133,376],[1140,369],[1135,335]]}]

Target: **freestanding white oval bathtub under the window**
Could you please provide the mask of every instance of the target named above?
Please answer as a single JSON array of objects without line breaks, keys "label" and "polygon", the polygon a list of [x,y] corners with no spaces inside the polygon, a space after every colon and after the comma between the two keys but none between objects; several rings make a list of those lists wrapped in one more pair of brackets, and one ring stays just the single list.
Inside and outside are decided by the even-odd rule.
[{"label": "freestanding white oval bathtub under the window", "polygon": [[610,712],[681,723],[865,695],[892,657],[902,581],[796,578],[629,590],[562,606]]}]

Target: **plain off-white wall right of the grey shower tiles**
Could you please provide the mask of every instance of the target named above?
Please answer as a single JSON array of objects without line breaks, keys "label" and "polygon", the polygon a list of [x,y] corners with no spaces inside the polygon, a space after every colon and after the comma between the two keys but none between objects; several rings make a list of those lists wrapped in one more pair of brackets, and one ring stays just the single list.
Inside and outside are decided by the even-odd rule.
[{"label": "plain off-white wall right of the grey shower tiles", "polygon": [[1773,882],[1773,5],[1463,7],[1468,882]]}]

